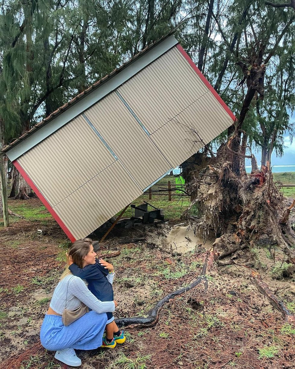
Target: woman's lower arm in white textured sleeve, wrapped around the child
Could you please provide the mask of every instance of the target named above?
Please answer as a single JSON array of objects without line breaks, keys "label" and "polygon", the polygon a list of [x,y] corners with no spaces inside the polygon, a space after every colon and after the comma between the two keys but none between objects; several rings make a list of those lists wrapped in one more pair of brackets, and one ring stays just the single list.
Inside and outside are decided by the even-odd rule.
[{"label": "woman's lower arm in white textured sleeve, wrapped around the child", "polygon": [[96,313],[112,313],[115,311],[114,301],[98,300],[86,287],[86,284],[79,277],[72,277],[69,282],[69,292],[82,301],[90,309]]}]

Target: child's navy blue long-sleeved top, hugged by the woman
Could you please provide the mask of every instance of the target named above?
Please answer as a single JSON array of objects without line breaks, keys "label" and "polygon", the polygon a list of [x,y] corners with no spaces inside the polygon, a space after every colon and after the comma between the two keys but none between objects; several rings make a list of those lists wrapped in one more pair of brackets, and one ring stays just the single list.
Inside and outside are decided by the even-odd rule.
[{"label": "child's navy blue long-sleeved top, hugged by the woman", "polygon": [[76,264],[69,266],[70,271],[74,276],[86,279],[88,282],[88,289],[100,301],[113,301],[114,291],[112,284],[108,281],[108,270],[104,269],[96,259],[95,264],[86,265],[83,269]]}]

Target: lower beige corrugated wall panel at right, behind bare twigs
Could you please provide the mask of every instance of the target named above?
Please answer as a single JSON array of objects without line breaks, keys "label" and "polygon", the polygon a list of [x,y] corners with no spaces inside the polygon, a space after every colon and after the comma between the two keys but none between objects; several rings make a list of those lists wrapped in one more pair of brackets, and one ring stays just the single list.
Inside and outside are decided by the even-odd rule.
[{"label": "lower beige corrugated wall panel at right, behind bare twigs", "polygon": [[[176,167],[202,148],[204,144],[208,144],[221,134],[231,124],[232,119],[215,99],[212,92],[208,91],[150,135],[150,138]],[[194,131],[198,133],[204,144]]]}]

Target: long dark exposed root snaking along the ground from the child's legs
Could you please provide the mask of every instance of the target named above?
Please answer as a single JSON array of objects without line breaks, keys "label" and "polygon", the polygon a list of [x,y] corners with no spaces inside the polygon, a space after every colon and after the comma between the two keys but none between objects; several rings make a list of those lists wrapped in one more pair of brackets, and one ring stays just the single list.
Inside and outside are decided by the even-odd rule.
[{"label": "long dark exposed root snaking along the ground from the child's legs", "polygon": [[157,302],[156,305],[152,308],[152,310],[149,311],[148,317],[146,318],[145,317],[120,318],[120,319],[116,319],[116,324],[119,327],[122,327],[122,326],[126,327],[130,325],[132,326],[133,325],[144,325],[145,327],[151,327],[152,325],[155,325],[159,319],[160,308],[164,304],[168,303],[170,300],[174,299],[174,297],[180,296],[181,294],[187,291],[190,291],[194,287],[198,286],[198,284],[200,284],[201,282],[204,282],[205,292],[206,292],[208,289],[208,280],[206,278],[206,270],[207,270],[207,267],[211,266],[213,258],[214,258],[214,252],[213,250],[211,250],[211,252],[205,256],[205,261],[202,267],[201,275],[188,286],[183,287],[177,291],[171,292],[165,297],[163,297],[163,299]]}]

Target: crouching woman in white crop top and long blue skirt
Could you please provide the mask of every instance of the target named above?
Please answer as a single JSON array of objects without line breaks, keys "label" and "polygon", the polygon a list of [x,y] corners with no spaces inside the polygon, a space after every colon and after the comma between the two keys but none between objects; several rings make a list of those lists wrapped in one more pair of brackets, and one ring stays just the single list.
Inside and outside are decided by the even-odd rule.
[{"label": "crouching woman in white crop top and long blue skirt", "polygon": [[[84,239],[77,240],[67,255],[73,262],[84,268],[95,263],[96,253],[93,246]],[[69,325],[65,322],[66,311],[73,311],[84,303],[91,309]],[[83,306],[83,304],[82,304]],[[56,286],[50,307],[42,323],[40,340],[42,346],[50,351],[56,351],[55,358],[69,366],[80,366],[81,360],[74,349],[91,350],[101,346],[108,312],[113,312],[116,301],[100,301],[87,288],[79,277],[74,276],[68,266]],[[82,313],[83,314],[83,313]],[[65,324],[63,324],[63,321]]]}]

